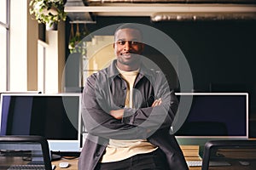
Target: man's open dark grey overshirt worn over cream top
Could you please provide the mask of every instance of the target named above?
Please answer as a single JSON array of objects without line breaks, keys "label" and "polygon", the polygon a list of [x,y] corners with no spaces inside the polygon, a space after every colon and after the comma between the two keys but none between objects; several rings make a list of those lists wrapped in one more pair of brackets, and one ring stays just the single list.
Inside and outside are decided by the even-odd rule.
[{"label": "man's open dark grey overshirt worn over cream top", "polygon": [[[148,139],[166,154],[169,169],[188,169],[177,140],[169,133],[178,102],[164,75],[141,65],[132,89],[135,108],[124,108],[127,86],[116,60],[87,78],[82,117],[89,134],[80,154],[79,169],[96,167],[108,139]],[[151,107],[155,99],[162,99],[162,103]],[[125,110],[122,120],[109,115],[109,111],[118,109]]]}]

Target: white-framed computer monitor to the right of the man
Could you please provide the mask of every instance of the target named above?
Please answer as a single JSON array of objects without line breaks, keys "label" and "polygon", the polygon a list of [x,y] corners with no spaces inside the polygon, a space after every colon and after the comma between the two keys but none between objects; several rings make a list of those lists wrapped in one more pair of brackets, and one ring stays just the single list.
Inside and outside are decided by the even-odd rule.
[{"label": "white-framed computer monitor to the right of the man", "polygon": [[180,144],[248,138],[247,93],[177,93],[177,97],[192,98],[189,115],[175,133]]}]

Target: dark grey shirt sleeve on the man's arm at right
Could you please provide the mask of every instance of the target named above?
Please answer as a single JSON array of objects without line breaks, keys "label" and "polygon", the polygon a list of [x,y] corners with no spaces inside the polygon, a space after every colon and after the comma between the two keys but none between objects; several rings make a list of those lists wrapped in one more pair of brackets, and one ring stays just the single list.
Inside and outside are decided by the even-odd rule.
[{"label": "dark grey shirt sleeve on the man's arm at right", "polygon": [[151,132],[172,126],[178,107],[177,97],[162,73],[157,73],[153,86],[154,99],[162,99],[161,105],[138,109],[125,108],[122,122],[149,129]]}]

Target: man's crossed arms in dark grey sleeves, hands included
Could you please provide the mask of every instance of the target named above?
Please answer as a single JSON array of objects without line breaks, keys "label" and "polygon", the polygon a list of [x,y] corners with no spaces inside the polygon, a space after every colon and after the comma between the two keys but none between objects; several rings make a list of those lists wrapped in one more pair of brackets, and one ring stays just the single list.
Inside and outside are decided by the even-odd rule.
[{"label": "man's crossed arms in dark grey sleeves, hands included", "polygon": [[177,111],[177,98],[165,82],[157,81],[159,87],[154,90],[154,98],[158,99],[151,106],[113,110],[106,100],[109,95],[104,94],[107,90],[102,86],[96,88],[96,79],[91,78],[84,88],[82,108],[88,133],[107,139],[146,139],[148,132],[170,127]]}]

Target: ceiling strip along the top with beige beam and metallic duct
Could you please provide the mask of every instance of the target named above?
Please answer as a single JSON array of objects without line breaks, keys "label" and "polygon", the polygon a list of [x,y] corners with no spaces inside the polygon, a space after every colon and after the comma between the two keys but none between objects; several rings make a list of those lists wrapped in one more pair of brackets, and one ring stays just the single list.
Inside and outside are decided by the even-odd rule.
[{"label": "ceiling strip along the top with beige beam and metallic duct", "polygon": [[67,0],[73,22],[96,16],[149,16],[162,20],[256,20],[256,0]]}]

